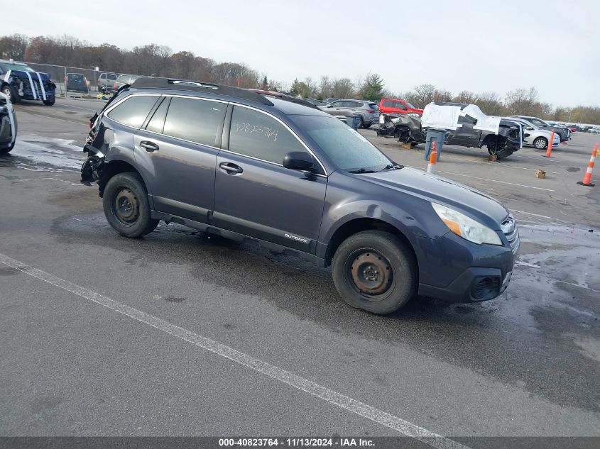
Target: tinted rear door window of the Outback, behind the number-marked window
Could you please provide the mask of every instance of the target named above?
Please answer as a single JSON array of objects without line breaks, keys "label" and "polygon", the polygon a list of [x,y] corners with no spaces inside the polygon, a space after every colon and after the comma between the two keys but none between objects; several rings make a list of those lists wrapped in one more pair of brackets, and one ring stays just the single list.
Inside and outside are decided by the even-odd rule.
[{"label": "tinted rear door window of the Outback, behind the number-marked window", "polygon": [[227,103],[174,96],[163,133],[214,147],[226,109]]}]

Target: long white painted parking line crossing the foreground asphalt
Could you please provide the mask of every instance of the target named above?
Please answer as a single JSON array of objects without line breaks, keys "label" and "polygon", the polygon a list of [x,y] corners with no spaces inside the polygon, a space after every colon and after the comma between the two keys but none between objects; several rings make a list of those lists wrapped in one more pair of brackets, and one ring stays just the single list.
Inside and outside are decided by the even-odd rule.
[{"label": "long white painted parking line crossing the foreground asphalt", "polygon": [[428,431],[426,428],[417,426],[413,423],[403,420],[402,418],[398,418],[397,416],[388,414],[385,411],[376,409],[373,406],[364,404],[363,402],[356,401],[356,399],[352,399],[351,397],[347,397],[344,394],[335,392],[332,389],[323,387],[320,384],[295,375],[289,371],[283,370],[275,365],[271,365],[270,363],[263,362],[256,357],[252,357],[246,353],[241,353],[238,350],[229,348],[229,346],[223,345],[222,343],[210,340],[209,338],[200,336],[192,331],[187,331],[187,329],[181,328],[180,326],[175,326],[175,324],[169,323],[161,318],[146,314],[146,312],[135,309],[131,306],[121,304],[118,301],[114,301],[114,299],[110,299],[108,296],[92,292],[92,290],[80,287],[79,285],[73,284],[65,279],[50,275],[47,272],[38,270],[37,268],[30,267],[29,265],[19,262],[18,260],[11,259],[11,257],[8,257],[4,254],[0,254],[0,263],[4,263],[4,265],[8,265],[9,267],[19,270],[26,275],[40,279],[48,284],[54,285],[55,287],[66,290],[67,292],[81,296],[84,299],[88,299],[89,301],[99,304],[100,306],[104,306],[107,309],[119,312],[119,314],[129,316],[130,318],[147,324],[148,326],[152,326],[159,331],[163,331],[172,336],[180,338],[181,340],[185,340],[188,343],[192,343],[192,345],[196,345],[199,348],[208,350],[214,354],[220,355],[221,357],[228,358],[229,360],[237,362],[240,365],[249,367],[251,370],[261,372],[263,375],[267,375],[273,379],[283,382],[284,384],[290,385],[290,387],[294,387],[302,390],[303,392],[312,394],[312,396],[323,399],[324,401],[341,407],[342,409],[349,410],[359,416],[364,416],[364,418],[370,419],[371,421],[381,424],[382,426],[391,428],[405,436],[410,436],[416,440],[420,440],[434,448],[469,449],[465,445],[438,435],[437,433]]}]

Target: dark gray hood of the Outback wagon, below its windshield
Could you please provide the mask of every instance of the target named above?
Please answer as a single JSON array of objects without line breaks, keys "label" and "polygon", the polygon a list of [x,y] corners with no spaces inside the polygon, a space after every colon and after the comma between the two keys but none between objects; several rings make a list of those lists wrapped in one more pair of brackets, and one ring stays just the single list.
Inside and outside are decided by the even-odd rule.
[{"label": "dark gray hood of the Outback wagon, below its windshield", "polygon": [[357,174],[365,180],[382,187],[408,192],[456,209],[500,231],[500,223],[508,216],[508,211],[498,201],[479,190],[459,184],[444,177],[404,167],[388,172]]}]

